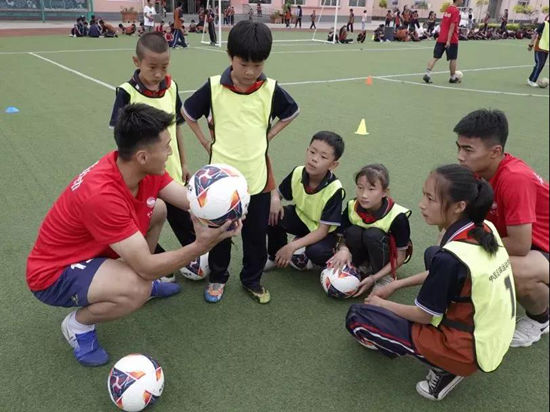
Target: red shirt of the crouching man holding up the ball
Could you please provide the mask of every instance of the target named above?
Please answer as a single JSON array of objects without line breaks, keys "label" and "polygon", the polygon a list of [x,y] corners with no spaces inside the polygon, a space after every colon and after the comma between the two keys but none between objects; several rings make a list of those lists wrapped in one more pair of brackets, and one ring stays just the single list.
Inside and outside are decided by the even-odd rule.
[{"label": "red shirt of the crouching man holding up the ball", "polygon": [[116,259],[110,244],[149,229],[158,192],[172,181],[168,173],[148,175],[134,197],[111,152],[84,169],[46,215],[27,260],[27,284],[44,290],[73,264],[95,257]]}]

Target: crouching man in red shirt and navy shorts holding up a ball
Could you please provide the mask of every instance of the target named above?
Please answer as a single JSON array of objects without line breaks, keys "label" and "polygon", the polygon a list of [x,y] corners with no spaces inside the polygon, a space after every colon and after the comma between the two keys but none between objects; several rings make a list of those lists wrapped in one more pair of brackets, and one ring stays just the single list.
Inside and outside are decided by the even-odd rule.
[{"label": "crouching man in red shirt and navy shorts holding up a ball", "polygon": [[118,150],[82,171],[46,215],[27,260],[27,284],[42,302],[80,307],[61,330],[85,366],[108,362],[95,324],[118,319],[153,297],[180,291],[158,279],[190,263],[241,223],[210,229],[194,220],[196,241],[152,254],[166,219],[163,200],[189,209],[187,190],[165,171],[172,115],[144,104],[121,109]]}]

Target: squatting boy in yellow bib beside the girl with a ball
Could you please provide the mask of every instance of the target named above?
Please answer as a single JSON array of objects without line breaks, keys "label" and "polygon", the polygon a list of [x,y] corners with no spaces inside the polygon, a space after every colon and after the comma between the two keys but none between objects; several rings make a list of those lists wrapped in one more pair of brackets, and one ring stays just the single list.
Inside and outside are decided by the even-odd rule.
[{"label": "squatting boy in yellow bib beside the girl with a ball", "polygon": [[[289,264],[303,269],[294,252],[304,247],[307,258],[319,266],[325,266],[332,256],[344,199],[342,183],[332,171],[343,153],[344,141],[339,135],[316,133],[306,151],[306,164],[294,168],[279,190],[273,191],[266,270]],[[280,196],[294,204],[283,207]],[[296,236],[290,243],[287,233]]]}]

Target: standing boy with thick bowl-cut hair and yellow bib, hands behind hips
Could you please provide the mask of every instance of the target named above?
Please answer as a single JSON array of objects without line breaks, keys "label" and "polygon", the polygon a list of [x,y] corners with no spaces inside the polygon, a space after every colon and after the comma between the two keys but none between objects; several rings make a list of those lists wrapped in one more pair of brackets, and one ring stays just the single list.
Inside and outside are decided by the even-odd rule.
[{"label": "standing boy with thick bowl-cut hair and yellow bib, hands behind hips", "polygon": [[[229,32],[227,53],[231,66],[221,76],[212,76],[183,105],[184,117],[210,154],[210,163],[237,168],[246,178],[251,194],[243,222],[243,267],[241,282],[259,303],[271,296],[260,281],[267,258],[265,237],[269,218],[270,191],[275,188],[267,151],[269,142],[298,115],[298,105],[275,80],[263,74],[271,52],[272,36],[263,23],[238,22]],[[198,119],[206,117],[206,138]],[[278,118],[277,122],[274,119]],[[209,253],[207,302],[218,302],[229,279],[231,241],[219,243]]]}]

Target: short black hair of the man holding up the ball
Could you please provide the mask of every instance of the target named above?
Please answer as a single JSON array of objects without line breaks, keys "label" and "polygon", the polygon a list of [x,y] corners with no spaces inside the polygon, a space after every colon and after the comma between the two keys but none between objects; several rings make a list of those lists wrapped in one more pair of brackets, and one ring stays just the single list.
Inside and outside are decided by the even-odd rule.
[{"label": "short black hair of the man holding up the ball", "polygon": [[119,157],[130,160],[143,146],[159,141],[159,134],[174,121],[173,115],[147,104],[135,103],[123,107],[118,112],[114,132]]}]

